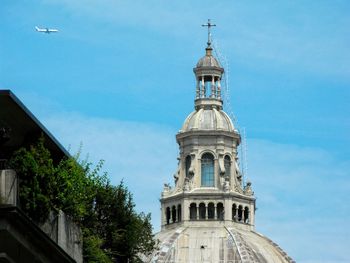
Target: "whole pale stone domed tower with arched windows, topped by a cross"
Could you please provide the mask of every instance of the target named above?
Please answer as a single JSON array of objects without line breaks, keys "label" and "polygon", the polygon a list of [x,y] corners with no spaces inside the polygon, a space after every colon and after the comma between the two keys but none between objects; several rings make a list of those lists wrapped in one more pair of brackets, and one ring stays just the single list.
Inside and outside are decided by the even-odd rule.
[{"label": "whole pale stone domed tower with arched windows, topped by a cross", "polygon": [[213,56],[208,20],[205,56],[193,69],[194,111],[176,135],[180,155],[175,186],[164,185],[160,246],[150,262],[293,262],[254,231],[255,197],[243,185],[241,136],[223,111],[224,69]]}]

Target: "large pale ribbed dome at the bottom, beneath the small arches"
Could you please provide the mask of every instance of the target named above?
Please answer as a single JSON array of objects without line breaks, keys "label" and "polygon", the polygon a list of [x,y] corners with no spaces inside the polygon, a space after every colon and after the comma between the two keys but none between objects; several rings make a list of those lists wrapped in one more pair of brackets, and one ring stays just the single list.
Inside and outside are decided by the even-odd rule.
[{"label": "large pale ribbed dome at the bottom, beneath the small arches", "polygon": [[177,227],[156,238],[159,249],[151,262],[295,263],[267,237],[237,227]]}]

